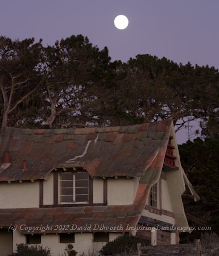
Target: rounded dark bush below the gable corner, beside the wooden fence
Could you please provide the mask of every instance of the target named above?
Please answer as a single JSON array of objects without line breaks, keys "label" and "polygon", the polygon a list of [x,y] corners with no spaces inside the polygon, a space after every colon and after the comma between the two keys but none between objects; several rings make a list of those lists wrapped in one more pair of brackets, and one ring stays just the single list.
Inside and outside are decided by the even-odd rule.
[{"label": "rounded dark bush below the gable corner, beside the wooden fence", "polygon": [[114,241],[106,243],[100,250],[100,255],[128,255],[137,252],[137,244],[148,245],[145,238],[138,236],[119,236]]}]

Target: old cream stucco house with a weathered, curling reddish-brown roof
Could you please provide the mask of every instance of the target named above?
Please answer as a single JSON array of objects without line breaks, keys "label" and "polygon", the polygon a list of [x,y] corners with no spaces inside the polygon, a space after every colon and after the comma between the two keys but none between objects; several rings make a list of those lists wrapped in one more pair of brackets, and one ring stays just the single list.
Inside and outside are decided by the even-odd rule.
[{"label": "old cream stucco house with a weathered, curling reddish-brown roof", "polygon": [[179,233],[189,231],[182,194],[190,183],[172,120],[56,130],[5,127],[0,150],[1,256],[19,243],[48,246],[54,256],[69,243],[78,252],[98,251],[123,234],[176,244]]}]

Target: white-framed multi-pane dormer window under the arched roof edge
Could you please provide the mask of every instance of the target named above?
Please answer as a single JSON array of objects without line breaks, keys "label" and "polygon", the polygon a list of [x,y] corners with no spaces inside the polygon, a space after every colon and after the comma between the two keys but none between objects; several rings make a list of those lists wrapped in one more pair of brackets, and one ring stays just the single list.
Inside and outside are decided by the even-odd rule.
[{"label": "white-framed multi-pane dormer window under the arched roof edge", "polygon": [[60,173],[60,203],[89,203],[89,174]]}]

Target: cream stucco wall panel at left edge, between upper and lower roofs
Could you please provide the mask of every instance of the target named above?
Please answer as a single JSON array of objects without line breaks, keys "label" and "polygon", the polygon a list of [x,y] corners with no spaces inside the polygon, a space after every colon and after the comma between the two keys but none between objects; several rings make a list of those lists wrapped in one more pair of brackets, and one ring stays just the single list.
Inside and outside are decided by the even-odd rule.
[{"label": "cream stucco wall panel at left edge, between upper and lower roofs", "polygon": [[0,183],[0,208],[39,207],[39,181]]}]

